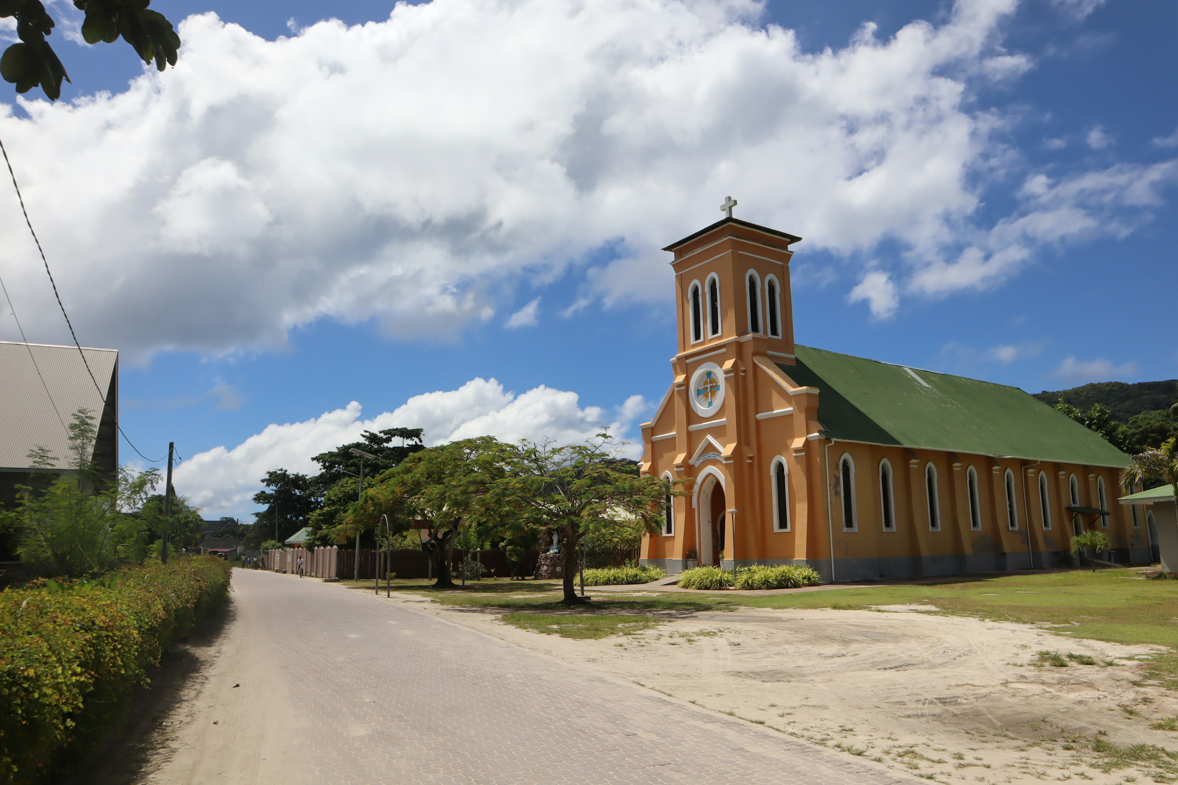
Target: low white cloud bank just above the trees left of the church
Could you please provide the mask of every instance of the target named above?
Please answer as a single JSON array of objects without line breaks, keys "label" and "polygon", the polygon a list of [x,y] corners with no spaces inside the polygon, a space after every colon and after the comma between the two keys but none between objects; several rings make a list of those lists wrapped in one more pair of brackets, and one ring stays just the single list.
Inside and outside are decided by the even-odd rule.
[{"label": "low white cloud bank just above the trees left of the church", "polygon": [[[241,514],[273,468],[317,473],[312,455],[358,441],[364,431],[390,427],[424,428],[426,445],[492,435],[560,443],[583,441],[608,428],[624,437],[630,424],[649,408],[642,395],[630,395],[616,411],[580,405],[576,393],[540,386],[525,393],[505,391],[495,379],[471,379],[458,390],[415,395],[392,412],[362,418],[360,405],[324,412],[302,423],[272,424],[232,448],[198,453],[176,470],[176,486],[206,517]],[[626,454],[637,458],[640,445]]]}]

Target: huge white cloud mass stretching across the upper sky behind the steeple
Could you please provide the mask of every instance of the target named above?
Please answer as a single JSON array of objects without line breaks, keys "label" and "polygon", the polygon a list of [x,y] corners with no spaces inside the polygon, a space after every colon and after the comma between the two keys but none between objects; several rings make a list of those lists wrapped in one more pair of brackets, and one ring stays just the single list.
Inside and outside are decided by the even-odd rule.
[{"label": "huge white cloud mass stretching across the upper sky behind the steeple", "polygon": [[[977,224],[1010,122],[980,88],[1033,65],[1002,47],[1015,6],[819,52],[750,0],[434,0],[273,41],[206,13],[176,68],[2,105],[0,134],[75,326],[127,361],[318,319],[445,337],[570,268],[576,307],[666,300],[657,248],[728,193],[803,250],[899,242],[896,292],[945,295],[1014,274],[1044,242],[1020,221],[1064,241],[1114,209],[1066,205],[1078,234],[1030,202]],[[1123,198],[1140,186],[1114,212],[1147,214]],[[0,261],[26,328],[65,340],[11,193]]]}]

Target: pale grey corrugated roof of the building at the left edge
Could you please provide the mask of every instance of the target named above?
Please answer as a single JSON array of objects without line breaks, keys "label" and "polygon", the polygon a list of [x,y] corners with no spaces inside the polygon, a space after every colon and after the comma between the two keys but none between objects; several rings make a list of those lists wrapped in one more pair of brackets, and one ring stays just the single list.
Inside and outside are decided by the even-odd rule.
[{"label": "pale grey corrugated roof of the building at the left edge", "polygon": [[[106,394],[118,365],[118,351],[82,351]],[[26,468],[28,451],[34,446],[48,447],[58,458],[58,466],[68,466],[70,433],[65,425],[79,408],[94,413],[97,427],[102,417],[102,397],[94,388],[77,347],[0,341],[0,468]]]}]

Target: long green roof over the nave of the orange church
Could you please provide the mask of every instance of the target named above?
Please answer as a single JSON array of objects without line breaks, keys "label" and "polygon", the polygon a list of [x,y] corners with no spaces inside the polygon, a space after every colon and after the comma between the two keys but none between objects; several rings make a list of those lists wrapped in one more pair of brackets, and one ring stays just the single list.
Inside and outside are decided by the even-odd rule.
[{"label": "long green roof over the nave of the orange church", "polygon": [[777,367],[819,388],[822,435],[846,441],[1088,466],[1132,459],[1018,387],[795,347]]}]

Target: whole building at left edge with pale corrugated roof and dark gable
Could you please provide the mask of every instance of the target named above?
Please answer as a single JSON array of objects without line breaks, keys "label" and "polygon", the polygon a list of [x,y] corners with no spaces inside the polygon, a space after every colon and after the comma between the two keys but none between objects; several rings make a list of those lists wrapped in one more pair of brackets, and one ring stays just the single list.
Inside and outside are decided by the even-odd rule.
[{"label": "whole building at left edge with pale corrugated roof and dark gable", "polygon": [[[119,353],[115,350],[0,341],[0,508],[11,508],[16,486],[75,471],[70,423],[79,410],[95,418],[88,455],[99,478],[119,467]],[[45,447],[49,467],[33,467],[31,453]],[[14,559],[13,543],[0,534],[0,561]]]}]

